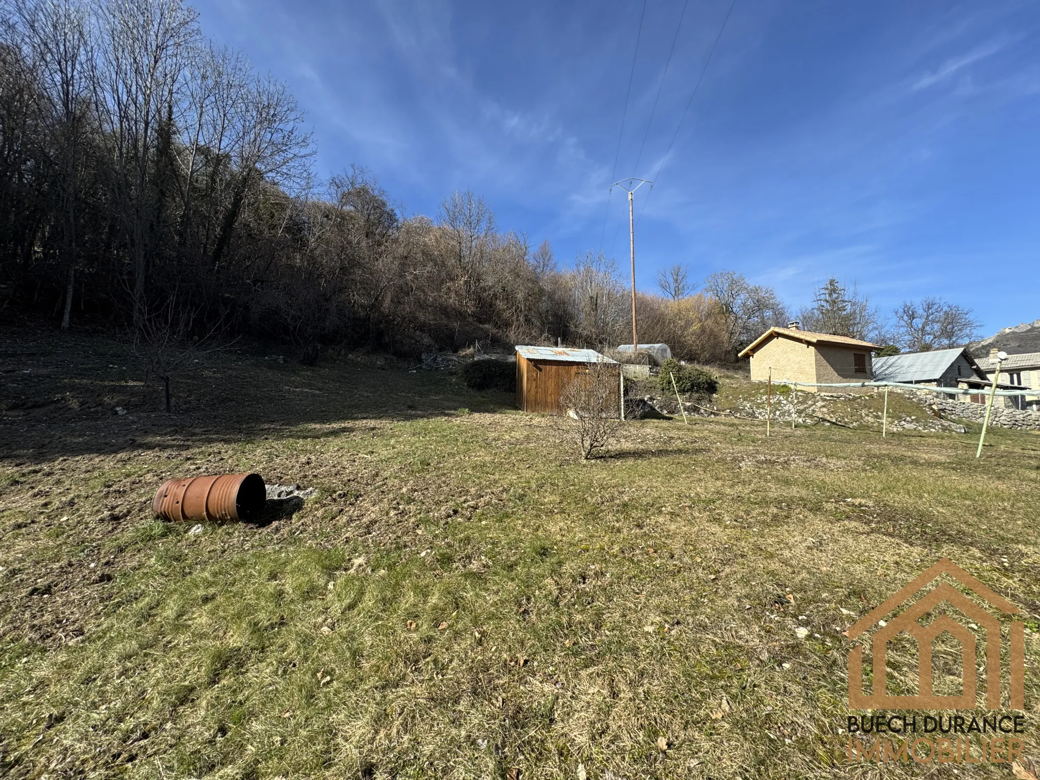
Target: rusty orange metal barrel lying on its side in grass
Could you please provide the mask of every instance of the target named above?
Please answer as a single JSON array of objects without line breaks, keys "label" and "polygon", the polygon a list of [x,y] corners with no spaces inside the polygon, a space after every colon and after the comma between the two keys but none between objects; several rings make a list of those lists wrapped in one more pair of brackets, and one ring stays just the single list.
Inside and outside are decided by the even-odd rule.
[{"label": "rusty orange metal barrel lying on its side in grass", "polygon": [[260,474],[222,474],[167,479],[155,492],[152,512],[166,520],[255,520],[267,501]]}]

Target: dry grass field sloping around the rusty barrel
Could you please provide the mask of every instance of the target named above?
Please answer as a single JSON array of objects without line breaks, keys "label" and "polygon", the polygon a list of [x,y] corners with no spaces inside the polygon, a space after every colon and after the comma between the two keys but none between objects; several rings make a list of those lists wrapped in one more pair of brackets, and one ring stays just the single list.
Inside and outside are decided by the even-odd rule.
[{"label": "dry grass field sloping around the rusty barrel", "polygon": [[[126,361],[0,342],[6,777],[1010,777],[843,763],[841,632],[943,555],[1028,616],[1036,756],[1038,435],[680,418],[582,462],[446,371],[227,353],[166,415]],[[246,470],[316,492],[150,515]]]}]

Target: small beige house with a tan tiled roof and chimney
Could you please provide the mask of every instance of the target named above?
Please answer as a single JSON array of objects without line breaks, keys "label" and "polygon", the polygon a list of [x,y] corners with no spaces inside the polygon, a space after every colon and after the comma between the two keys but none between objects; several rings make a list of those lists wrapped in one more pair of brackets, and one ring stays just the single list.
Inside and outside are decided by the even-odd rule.
[{"label": "small beige house with a tan tiled roof and chimney", "polygon": [[[751,359],[752,380],[764,382],[770,369],[774,382],[869,382],[874,378],[870,353],[881,348],[877,344],[791,326],[771,328],[740,353],[739,357]],[[828,388],[801,389],[828,391]]]}]

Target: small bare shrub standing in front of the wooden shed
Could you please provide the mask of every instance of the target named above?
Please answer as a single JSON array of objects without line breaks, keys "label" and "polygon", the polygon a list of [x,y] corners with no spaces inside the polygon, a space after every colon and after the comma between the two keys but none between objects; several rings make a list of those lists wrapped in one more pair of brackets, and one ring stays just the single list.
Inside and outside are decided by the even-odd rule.
[{"label": "small bare shrub standing in front of the wooden shed", "polygon": [[620,392],[617,366],[590,363],[588,373],[569,382],[560,394],[566,410],[561,423],[575,441],[583,460],[605,448],[621,427]]}]

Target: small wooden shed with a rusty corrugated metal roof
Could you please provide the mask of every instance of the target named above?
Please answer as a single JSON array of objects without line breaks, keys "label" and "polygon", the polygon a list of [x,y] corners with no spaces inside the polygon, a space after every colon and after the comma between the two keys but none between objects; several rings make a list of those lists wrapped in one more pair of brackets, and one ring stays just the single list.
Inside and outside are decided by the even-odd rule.
[{"label": "small wooden shed with a rusty corrugated metal roof", "polygon": [[[524,412],[563,414],[560,394],[570,382],[589,373],[591,363],[606,363],[618,373],[621,364],[595,349],[556,346],[517,346],[517,407]],[[620,414],[620,396],[616,399]]]}]

